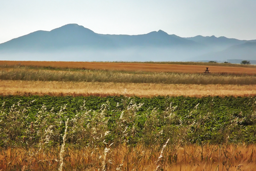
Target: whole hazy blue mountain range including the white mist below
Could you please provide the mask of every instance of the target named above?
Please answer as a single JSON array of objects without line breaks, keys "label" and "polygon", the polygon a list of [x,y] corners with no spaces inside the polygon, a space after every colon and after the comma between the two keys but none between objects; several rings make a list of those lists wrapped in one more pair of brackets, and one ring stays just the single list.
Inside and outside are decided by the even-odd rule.
[{"label": "whole hazy blue mountain range including the white mist below", "polygon": [[226,37],[182,38],[163,30],[142,35],[98,34],[78,24],[35,31],[0,44],[0,60],[195,61],[254,59],[255,43]]}]

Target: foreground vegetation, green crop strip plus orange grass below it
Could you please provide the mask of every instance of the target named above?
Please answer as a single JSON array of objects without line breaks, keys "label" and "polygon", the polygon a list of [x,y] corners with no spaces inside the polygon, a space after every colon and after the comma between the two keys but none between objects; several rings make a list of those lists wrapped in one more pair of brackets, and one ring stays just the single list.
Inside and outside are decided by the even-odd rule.
[{"label": "foreground vegetation, green crop strip plus orange grass below it", "polygon": [[254,171],[255,101],[0,97],[0,170]]}]

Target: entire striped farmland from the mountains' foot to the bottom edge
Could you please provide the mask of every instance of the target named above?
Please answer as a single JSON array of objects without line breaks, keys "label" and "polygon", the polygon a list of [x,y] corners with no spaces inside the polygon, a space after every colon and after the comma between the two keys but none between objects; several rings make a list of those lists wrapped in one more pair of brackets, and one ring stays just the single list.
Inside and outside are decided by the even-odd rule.
[{"label": "entire striped farmland from the mountains' foot to the bottom edge", "polygon": [[1,61],[0,170],[254,171],[255,73]]}]

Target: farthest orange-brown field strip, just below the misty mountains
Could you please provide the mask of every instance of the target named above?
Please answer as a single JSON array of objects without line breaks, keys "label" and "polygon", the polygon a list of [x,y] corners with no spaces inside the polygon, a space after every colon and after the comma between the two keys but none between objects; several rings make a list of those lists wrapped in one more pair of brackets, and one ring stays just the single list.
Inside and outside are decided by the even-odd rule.
[{"label": "farthest orange-brown field strip, just below the misty mountains", "polygon": [[[158,64],[158,63],[109,63],[109,62],[49,62],[49,61],[0,61],[0,65],[22,65],[22,66],[51,66],[60,68],[84,68],[98,70],[119,71],[150,71],[150,72],[177,72],[177,73],[203,73],[209,67],[211,73],[232,73],[255,75],[254,65],[214,66],[188,64]],[[209,66],[210,65],[210,66]],[[245,66],[245,67],[238,67]],[[248,67],[249,66],[249,67]]]}]

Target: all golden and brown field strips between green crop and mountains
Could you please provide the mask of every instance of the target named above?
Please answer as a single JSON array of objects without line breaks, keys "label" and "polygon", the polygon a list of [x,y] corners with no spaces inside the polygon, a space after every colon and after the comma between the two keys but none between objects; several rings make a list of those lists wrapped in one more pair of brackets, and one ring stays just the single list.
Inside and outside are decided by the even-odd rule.
[{"label": "all golden and brown field strips between green crop and mountains", "polygon": [[[0,61],[0,65],[1,95],[237,97],[256,94],[256,67],[253,66],[210,66],[211,73],[203,74],[206,66],[189,64]],[[37,68],[41,66],[61,70]]]}]

